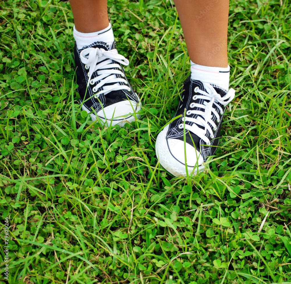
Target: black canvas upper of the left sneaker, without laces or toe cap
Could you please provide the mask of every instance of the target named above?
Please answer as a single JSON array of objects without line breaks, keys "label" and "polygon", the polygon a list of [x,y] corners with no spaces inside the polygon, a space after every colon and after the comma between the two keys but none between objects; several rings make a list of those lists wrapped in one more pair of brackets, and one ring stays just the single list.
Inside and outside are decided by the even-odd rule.
[{"label": "black canvas upper of the left sneaker, without laces or toe cap", "polygon": [[[106,106],[110,106],[111,104],[115,104],[117,102],[120,102],[122,100],[133,100],[135,102],[138,102],[139,99],[136,96],[136,94],[134,93],[134,90],[132,89],[132,86],[129,84],[128,80],[126,77],[122,77],[120,74],[116,74],[116,77],[118,78],[122,78],[125,79],[127,81],[127,83],[124,83],[124,85],[128,86],[130,88],[130,91],[127,90],[113,90],[110,93],[107,93],[106,95],[104,94],[100,94],[100,96],[98,98],[95,98],[94,95],[98,92],[100,92],[102,90],[102,87],[100,87],[97,92],[93,92],[93,88],[94,86],[96,86],[100,81],[97,81],[95,84],[88,86],[88,90],[87,90],[87,84],[88,84],[88,69],[85,69],[85,64],[82,63],[81,59],[80,59],[80,52],[88,47],[93,47],[93,48],[103,48],[104,50],[110,50],[110,49],[116,49],[116,42],[114,41],[111,48],[109,47],[109,45],[105,42],[95,42],[87,47],[84,47],[82,49],[77,49],[77,45],[75,44],[74,47],[74,59],[75,59],[75,65],[76,65],[76,76],[77,76],[77,84],[78,84],[78,88],[77,91],[80,95],[80,101],[83,102],[84,106],[87,109],[91,109],[91,107],[93,109],[95,109],[96,112],[100,111]],[[104,59],[107,60],[107,59]],[[117,63],[118,62],[112,60],[112,63]],[[121,65],[120,65],[121,66]],[[122,72],[124,73],[123,67],[122,68]],[[118,68],[112,68],[115,70],[118,70]],[[93,72],[93,75],[91,77],[91,79],[97,77],[97,71]],[[104,86],[106,85],[110,85],[110,84],[104,84]],[[87,90],[87,92],[86,92]],[[85,95],[86,94],[86,95]]]}]

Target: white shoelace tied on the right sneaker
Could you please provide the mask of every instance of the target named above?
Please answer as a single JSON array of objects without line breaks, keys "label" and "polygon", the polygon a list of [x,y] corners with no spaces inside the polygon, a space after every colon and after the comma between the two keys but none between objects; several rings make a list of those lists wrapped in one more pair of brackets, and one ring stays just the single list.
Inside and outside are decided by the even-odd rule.
[{"label": "white shoelace tied on the right sneaker", "polygon": [[[194,123],[193,125],[188,125],[185,123],[185,129],[195,133],[198,137],[203,139],[203,141],[205,141],[207,145],[210,145],[210,140],[207,138],[207,136],[205,136],[207,130],[210,132],[211,139],[214,138],[214,133],[211,129],[211,126],[213,127],[214,132],[217,130],[217,126],[212,120],[213,118],[211,119],[212,117],[211,113],[214,114],[214,117],[216,117],[217,122],[218,123],[220,122],[219,114],[214,109],[213,104],[218,107],[218,109],[220,110],[220,114],[222,115],[223,109],[221,108],[221,106],[219,106],[218,102],[226,106],[229,102],[233,100],[235,96],[235,90],[231,88],[225,96],[221,97],[221,95],[219,95],[210,84],[204,84],[204,86],[208,93],[203,90],[200,90],[199,87],[196,87],[194,89],[194,92],[199,94],[193,96],[193,100],[197,99],[204,100],[203,104],[191,103],[190,107],[205,109],[205,111],[188,110],[186,111],[186,115],[189,116],[191,114],[198,114],[199,116],[197,116],[196,118],[185,116],[184,118],[182,118],[182,121],[193,122]],[[205,100],[210,102],[206,102]],[[198,125],[202,126],[203,128],[198,127]],[[179,128],[180,129],[184,128],[184,123],[181,123],[179,125]]]}]

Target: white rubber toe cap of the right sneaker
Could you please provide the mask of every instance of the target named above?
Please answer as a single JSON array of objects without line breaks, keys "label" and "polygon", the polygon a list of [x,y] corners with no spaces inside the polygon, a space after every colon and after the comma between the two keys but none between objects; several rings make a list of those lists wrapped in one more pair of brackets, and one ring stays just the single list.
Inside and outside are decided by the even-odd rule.
[{"label": "white rubber toe cap of the right sneaker", "polygon": [[178,139],[168,139],[168,148],[171,154],[182,164],[185,164],[185,146],[187,166],[197,167],[197,165],[202,165],[204,162],[203,157],[193,146],[188,143],[184,144],[184,141]]}]

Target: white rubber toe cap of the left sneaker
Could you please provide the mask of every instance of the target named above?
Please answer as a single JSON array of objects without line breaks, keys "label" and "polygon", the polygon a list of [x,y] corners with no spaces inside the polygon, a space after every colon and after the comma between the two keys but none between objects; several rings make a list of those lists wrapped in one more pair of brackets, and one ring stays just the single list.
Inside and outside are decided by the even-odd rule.
[{"label": "white rubber toe cap of the left sneaker", "polygon": [[104,109],[101,109],[97,112],[97,116],[100,118],[110,120],[110,119],[125,119],[131,116],[130,113],[136,111],[137,103],[132,100],[123,100],[110,106],[106,106]]}]

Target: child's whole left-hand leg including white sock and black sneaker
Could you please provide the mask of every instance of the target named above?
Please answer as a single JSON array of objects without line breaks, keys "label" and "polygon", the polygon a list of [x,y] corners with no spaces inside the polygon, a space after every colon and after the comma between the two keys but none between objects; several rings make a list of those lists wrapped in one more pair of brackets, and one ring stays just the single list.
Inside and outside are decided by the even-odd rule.
[{"label": "child's whole left-hand leg including white sock and black sneaker", "polygon": [[74,58],[82,109],[108,125],[134,121],[139,97],[122,65],[129,61],[116,50],[107,15],[107,0],[70,0],[74,16]]}]

